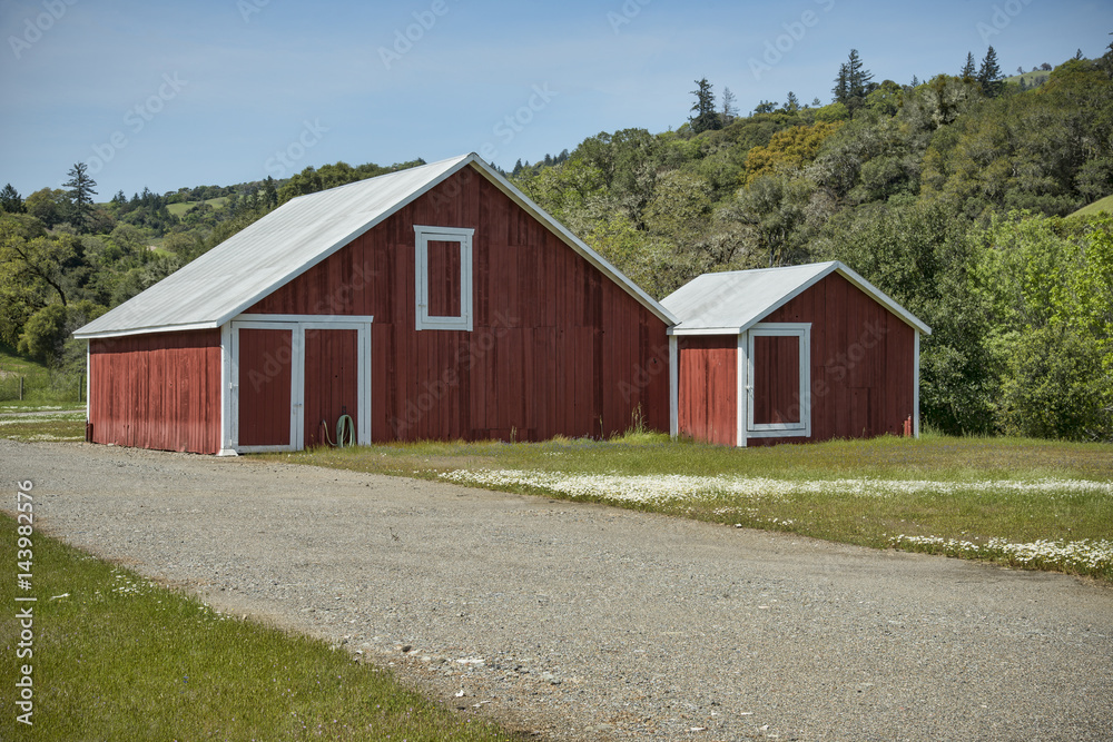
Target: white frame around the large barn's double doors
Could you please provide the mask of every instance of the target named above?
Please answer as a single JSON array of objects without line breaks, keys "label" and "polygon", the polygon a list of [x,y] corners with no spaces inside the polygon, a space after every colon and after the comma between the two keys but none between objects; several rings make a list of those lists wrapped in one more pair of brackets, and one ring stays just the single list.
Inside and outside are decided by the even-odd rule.
[{"label": "white frame around the large barn's double doors", "polygon": [[[371,444],[371,324],[370,315],[258,315],[243,314],[220,328],[220,452],[219,456],[270,451],[301,451],[305,447],[305,330],[352,329],[357,332],[358,403],[356,443]],[[290,419],[288,446],[239,445],[239,330],[288,329],[290,338]]]}]

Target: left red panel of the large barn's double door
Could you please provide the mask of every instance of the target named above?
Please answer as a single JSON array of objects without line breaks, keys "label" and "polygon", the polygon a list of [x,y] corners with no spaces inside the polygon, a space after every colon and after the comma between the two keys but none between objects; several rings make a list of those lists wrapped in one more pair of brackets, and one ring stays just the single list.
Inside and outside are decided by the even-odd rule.
[{"label": "left red panel of the large barn's double door", "polygon": [[290,329],[239,330],[239,445],[288,446]]}]

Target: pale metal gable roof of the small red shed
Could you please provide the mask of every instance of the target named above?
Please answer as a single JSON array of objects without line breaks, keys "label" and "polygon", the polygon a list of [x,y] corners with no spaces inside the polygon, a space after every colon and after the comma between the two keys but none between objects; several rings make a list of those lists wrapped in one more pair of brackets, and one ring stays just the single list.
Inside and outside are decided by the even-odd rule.
[{"label": "pale metal gable roof of the small red shed", "polygon": [[932,328],[838,260],[787,268],[703,274],[664,297],[661,304],[680,323],[670,335],[735,335],[761,321],[833,273],[925,335]]}]

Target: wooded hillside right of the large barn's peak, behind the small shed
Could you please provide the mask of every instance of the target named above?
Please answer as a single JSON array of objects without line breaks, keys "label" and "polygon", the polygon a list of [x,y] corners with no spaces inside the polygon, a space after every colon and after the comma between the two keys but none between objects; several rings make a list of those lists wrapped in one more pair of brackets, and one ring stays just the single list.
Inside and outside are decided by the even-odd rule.
[{"label": "wooded hillside right of the large barn's peak, behind the small shed", "polygon": [[1113,47],[1026,90],[994,58],[916,86],[856,58],[827,106],[728,121],[700,80],[679,130],[600,133],[518,185],[657,297],[843,260],[933,327],[935,429],[1113,438],[1113,227],[1068,217],[1113,192]]}]

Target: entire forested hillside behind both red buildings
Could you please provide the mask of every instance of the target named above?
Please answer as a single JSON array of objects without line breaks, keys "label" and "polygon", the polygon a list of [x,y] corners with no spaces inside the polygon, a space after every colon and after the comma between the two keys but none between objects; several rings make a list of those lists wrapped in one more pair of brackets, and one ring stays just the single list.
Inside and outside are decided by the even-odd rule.
[{"label": "entire forested hillside behind both red buildings", "polygon": [[[1113,194],[1113,44],[1012,81],[995,59],[898,85],[851,51],[828,105],[788,93],[750,116],[703,79],[678,129],[599,133],[511,178],[658,298],[706,271],[843,260],[933,327],[928,426],[1113,439],[1113,220],[1071,216]],[[75,327],[269,209],[414,164],[102,206],[80,164],[70,190],[9,187],[0,340],[80,362]]]}]

